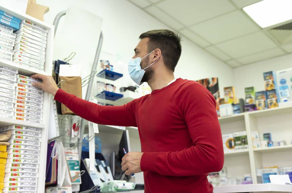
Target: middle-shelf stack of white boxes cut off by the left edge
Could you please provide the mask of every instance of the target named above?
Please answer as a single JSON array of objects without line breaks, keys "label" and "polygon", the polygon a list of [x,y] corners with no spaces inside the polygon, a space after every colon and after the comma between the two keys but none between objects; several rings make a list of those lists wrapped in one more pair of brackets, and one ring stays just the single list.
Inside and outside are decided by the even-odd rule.
[{"label": "middle-shelf stack of white boxes cut off by the left edge", "polygon": [[0,66],[0,117],[13,119],[18,70]]}]

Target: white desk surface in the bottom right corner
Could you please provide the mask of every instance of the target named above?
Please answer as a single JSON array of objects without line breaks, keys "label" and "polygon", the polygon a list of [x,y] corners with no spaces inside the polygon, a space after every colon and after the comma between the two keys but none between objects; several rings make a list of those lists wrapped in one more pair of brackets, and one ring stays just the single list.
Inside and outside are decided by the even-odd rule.
[{"label": "white desk surface in the bottom right corner", "polygon": [[292,193],[292,185],[281,184],[248,184],[248,185],[229,185],[214,186],[214,193],[238,193],[238,192],[256,192],[256,193]]}]

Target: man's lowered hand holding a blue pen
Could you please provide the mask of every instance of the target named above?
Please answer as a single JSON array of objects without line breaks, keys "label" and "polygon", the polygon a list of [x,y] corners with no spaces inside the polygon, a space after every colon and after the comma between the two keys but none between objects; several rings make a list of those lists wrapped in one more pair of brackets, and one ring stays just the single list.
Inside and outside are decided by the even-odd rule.
[{"label": "man's lowered hand holding a blue pen", "polygon": [[140,168],[141,152],[129,152],[122,158],[122,170],[125,171],[126,175],[142,172]]}]

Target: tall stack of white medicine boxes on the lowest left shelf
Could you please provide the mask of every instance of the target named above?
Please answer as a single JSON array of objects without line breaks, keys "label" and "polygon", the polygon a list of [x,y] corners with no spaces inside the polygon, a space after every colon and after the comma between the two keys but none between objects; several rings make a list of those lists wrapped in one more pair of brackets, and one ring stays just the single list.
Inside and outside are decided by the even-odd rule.
[{"label": "tall stack of white medicine boxes on the lowest left shelf", "polygon": [[0,133],[8,130],[12,135],[7,146],[3,192],[36,192],[41,129],[11,125],[0,128]]}]

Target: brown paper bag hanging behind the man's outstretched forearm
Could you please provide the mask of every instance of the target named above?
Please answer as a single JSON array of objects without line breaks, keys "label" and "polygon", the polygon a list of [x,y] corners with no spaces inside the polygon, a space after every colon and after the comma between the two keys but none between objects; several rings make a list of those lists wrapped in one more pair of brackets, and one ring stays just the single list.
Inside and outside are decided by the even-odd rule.
[{"label": "brown paper bag hanging behind the man's outstretched forearm", "polygon": [[[60,76],[61,89],[69,94],[73,94],[78,98],[82,99],[82,88],[81,88],[81,77],[80,76]],[[74,114],[70,109],[68,109],[64,104],[61,104],[62,115]]]}]

